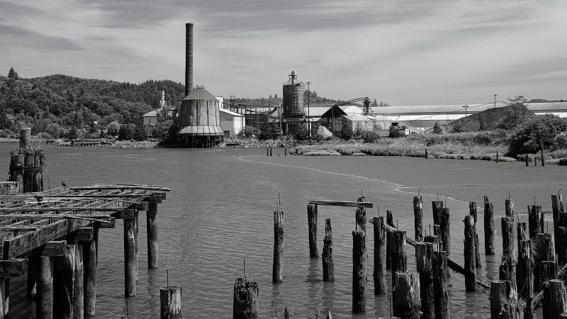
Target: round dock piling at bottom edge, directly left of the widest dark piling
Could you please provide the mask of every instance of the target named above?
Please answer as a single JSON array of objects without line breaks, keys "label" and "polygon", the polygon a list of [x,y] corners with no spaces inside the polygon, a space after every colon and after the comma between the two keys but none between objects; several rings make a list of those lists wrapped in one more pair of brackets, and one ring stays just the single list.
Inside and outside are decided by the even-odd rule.
[{"label": "round dock piling at bottom edge, directly left of the widest dark piling", "polygon": [[53,318],[53,264],[51,257],[40,257],[40,271],[35,301],[36,318]]}]

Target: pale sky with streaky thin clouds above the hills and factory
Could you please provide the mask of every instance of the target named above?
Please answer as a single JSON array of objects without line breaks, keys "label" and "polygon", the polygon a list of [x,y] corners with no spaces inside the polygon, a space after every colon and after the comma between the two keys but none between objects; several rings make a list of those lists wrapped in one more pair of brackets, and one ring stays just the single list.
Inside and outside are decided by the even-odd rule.
[{"label": "pale sky with streaky thin clouds above the hills and factory", "polygon": [[0,74],[193,82],[281,96],[294,70],[334,99],[567,99],[565,0],[0,0]]}]

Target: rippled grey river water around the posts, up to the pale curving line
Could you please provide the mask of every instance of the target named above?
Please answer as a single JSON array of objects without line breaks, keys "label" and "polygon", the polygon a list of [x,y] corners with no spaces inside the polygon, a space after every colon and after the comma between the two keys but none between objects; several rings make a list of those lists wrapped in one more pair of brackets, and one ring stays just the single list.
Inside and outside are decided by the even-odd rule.
[{"label": "rippled grey river water around the posts, up to the pale curving line", "polygon": [[[0,160],[9,165],[9,150],[0,145]],[[279,152],[279,151],[277,151]],[[274,156],[276,153],[274,153]],[[283,152],[281,152],[283,155]],[[344,172],[337,167],[319,170],[298,167],[294,157],[279,164],[267,163],[265,150],[120,150],[99,147],[47,146],[45,186],[82,186],[94,183],[139,183],[171,187],[167,200],[158,205],[159,268],[147,269],[145,214],[140,214],[139,279],[137,296],[128,298],[131,318],[159,316],[159,287],[183,288],[185,318],[231,318],[232,287],[242,272],[243,259],[252,279],[259,284],[261,318],[283,318],[289,308],[296,318],[315,318],[316,310],[331,310],[334,318],[376,318],[388,314],[388,298],[374,296],[371,278],[374,267],[374,237],[369,231],[369,281],[366,315],[351,312],[352,230],[354,208],[320,206],[319,247],[322,250],[325,218],[331,218],[334,237],[335,283],[322,282],[321,259],[310,259],[306,205],[311,198],[356,201],[361,192],[375,203],[367,216],[392,210],[399,228],[413,236],[412,198],[399,184]],[[281,158],[280,158],[281,159]],[[314,159],[315,160],[315,159]],[[412,160],[412,159],[408,159]],[[287,161],[287,162],[286,162]],[[465,162],[465,161],[464,161]],[[344,165],[344,159],[337,165]],[[414,172],[400,172],[413,174]],[[45,174],[47,177],[47,174]],[[404,185],[411,186],[411,185]],[[421,194],[424,225],[432,223],[431,201],[437,196]],[[274,245],[273,211],[278,198],[285,211],[283,283],[271,283]],[[463,264],[462,217],[468,203],[444,198],[451,209],[451,259]],[[478,203],[482,198],[478,198]],[[482,209],[479,208],[479,215]],[[483,218],[478,218],[483,276],[498,276],[500,257],[485,260]],[[500,223],[495,223],[497,226]],[[126,313],[123,297],[123,230],[103,229],[99,244],[99,277],[96,318],[116,318]],[[429,233],[428,227],[424,227]],[[369,228],[371,230],[371,228]],[[495,240],[501,255],[499,227]],[[408,245],[408,269],[415,272],[415,252]],[[388,287],[391,276],[386,276]],[[488,290],[464,291],[464,279],[451,276],[450,298],[453,318],[489,318]],[[16,280],[11,293],[11,313],[33,318],[33,301]]]}]

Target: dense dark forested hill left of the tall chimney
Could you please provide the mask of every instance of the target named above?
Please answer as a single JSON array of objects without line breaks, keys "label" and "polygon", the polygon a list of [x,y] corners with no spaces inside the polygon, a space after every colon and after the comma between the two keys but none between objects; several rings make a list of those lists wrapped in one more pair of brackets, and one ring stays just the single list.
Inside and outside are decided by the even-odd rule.
[{"label": "dense dark forested hill left of the tall chimney", "polygon": [[167,80],[131,84],[62,74],[22,79],[10,69],[0,76],[0,130],[6,135],[29,126],[34,135],[59,138],[71,128],[100,132],[115,121],[140,127],[142,115],[159,106],[162,90],[167,103],[181,103],[183,84]]}]

